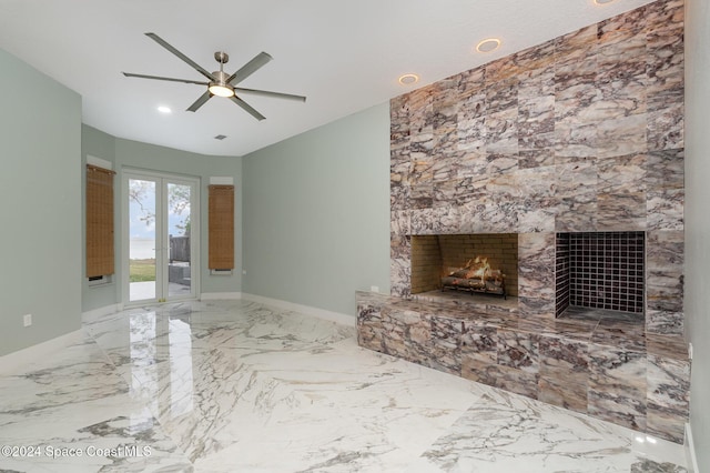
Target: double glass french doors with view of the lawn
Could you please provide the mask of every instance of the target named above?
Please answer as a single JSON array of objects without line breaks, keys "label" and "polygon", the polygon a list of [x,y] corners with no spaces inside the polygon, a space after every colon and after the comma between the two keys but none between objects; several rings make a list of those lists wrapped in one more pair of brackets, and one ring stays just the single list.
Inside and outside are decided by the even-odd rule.
[{"label": "double glass french doors with view of the lawn", "polygon": [[199,184],[196,179],[124,171],[126,303],[196,298]]}]

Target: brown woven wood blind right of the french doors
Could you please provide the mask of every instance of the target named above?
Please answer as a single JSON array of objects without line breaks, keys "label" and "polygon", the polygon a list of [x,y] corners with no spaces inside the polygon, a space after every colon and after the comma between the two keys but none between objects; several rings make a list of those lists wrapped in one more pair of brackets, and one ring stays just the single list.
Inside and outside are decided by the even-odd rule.
[{"label": "brown woven wood blind right of the french doors", "polygon": [[234,269],[234,185],[210,185],[211,270]]}]

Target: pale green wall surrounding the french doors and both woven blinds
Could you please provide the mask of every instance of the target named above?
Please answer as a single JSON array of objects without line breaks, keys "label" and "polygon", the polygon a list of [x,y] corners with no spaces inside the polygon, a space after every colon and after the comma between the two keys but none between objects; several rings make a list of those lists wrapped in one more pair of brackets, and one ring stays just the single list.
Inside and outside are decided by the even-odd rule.
[{"label": "pale green wall surrounding the french doors and both woven blinds", "polygon": [[[116,228],[116,274],[114,282],[109,286],[89,288],[85,278],[83,281],[83,311],[104,308],[121,302],[122,273],[121,273],[121,192],[122,170],[125,168],[158,171],[170,174],[196,177],[201,179],[201,292],[202,293],[234,293],[242,288],[242,159],[235,157],[212,157],[180,151],[171,148],[146,144],[138,141],[113,138],[94,128],[84,125],[82,129],[82,154],[91,154],[97,158],[111,161],[118,172],[115,177],[115,228]],[[236,270],[231,276],[215,276],[207,271],[207,185],[210,177],[232,177],[235,185],[236,215],[235,215],[235,254]]]}]

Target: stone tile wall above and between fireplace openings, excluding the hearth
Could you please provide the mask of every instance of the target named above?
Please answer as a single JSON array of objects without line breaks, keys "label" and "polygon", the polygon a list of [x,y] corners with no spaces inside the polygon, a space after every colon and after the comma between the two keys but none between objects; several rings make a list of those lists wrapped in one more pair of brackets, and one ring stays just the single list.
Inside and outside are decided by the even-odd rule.
[{"label": "stone tile wall above and between fireplace openings, excluding the hearth", "polygon": [[520,316],[551,319],[555,232],[645,231],[647,328],[682,334],[682,0],[393,99],[392,294],[410,235],[519,233]]}]

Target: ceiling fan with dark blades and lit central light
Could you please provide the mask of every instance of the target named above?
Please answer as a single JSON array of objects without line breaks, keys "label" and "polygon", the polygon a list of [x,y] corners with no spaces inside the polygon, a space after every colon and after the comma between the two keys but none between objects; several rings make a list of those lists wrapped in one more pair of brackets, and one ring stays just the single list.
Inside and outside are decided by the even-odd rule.
[{"label": "ceiling fan with dark blades and lit central light", "polygon": [[196,62],[194,62],[192,59],[187,58],[185,54],[180,52],[178,49],[175,49],[173,46],[171,46],[169,42],[166,42],[164,39],[162,39],[158,34],[145,33],[145,36],[152,39],[153,41],[155,41],[156,43],[159,43],[160,46],[162,46],[163,48],[165,48],[166,50],[169,50],[170,52],[172,52],[173,54],[175,54],[176,57],[179,57],[180,59],[182,59],[183,61],[185,61],[193,69],[195,69],[206,79],[209,79],[209,81],[164,78],[160,76],[134,74],[131,72],[123,72],[123,76],[125,76],[126,78],[166,80],[171,82],[196,83],[199,85],[206,85],[207,90],[202,95],[200,95],[200,98],[195,100],[195,102],[192,105],[187,108],[187,111],[190,112],[197,111],[197,109],[204,105],[204,103],[207,100],[210,100],[214,95],[217,95],[217,97],[224,97],[230,99],[231,101],[240,105],[242,109],[244,109],[246,112],[248,112],[256,120],[265,119],[264,115],[262,115],[260,112],[254,110],[254,108],[252,108],[248,103],[246,103],[244,100],[237,97],[236,92],[253,93],[255,95],[273,97],[276,99],[297,100],[300,102],[306,101],[306,98],[303,95],[293,95],[291,93],[270,92],[267,90],[244,89],[241,87],[235,87],[273,59],[271,56],[268,56],[265,52],[260,52],[254,57],[254,59],[248,61],[246,64],[242,66],[240,70],[234,72],[232,76],[227,76],[227,73],[224,72],[224,64],[226,64],[227,61],[230,60],[230,57],[226,52],[217,51],[214,53],[214,59],[220,63],[220,70],[215,72],[210,72],[206,69],[202,68]]}]

